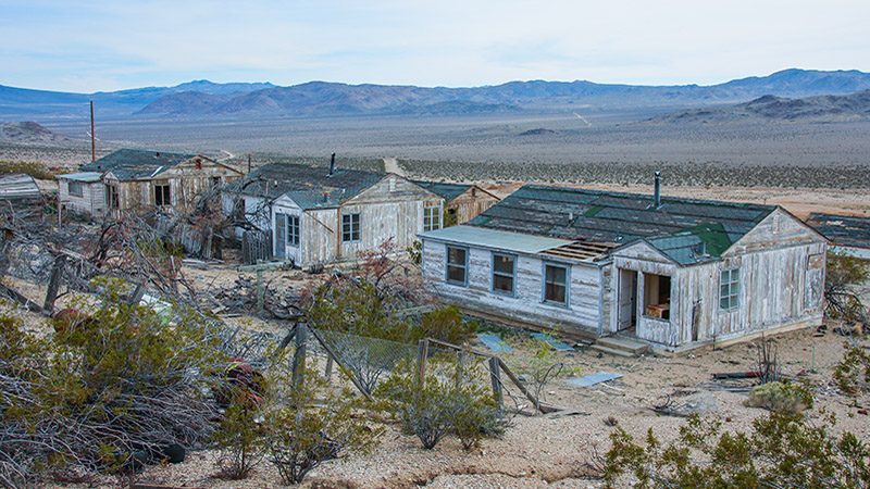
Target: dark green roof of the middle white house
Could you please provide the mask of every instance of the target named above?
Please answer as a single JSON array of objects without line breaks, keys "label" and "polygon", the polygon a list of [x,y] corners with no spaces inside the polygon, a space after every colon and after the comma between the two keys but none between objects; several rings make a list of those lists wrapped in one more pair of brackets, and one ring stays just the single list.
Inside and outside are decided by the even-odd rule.
[{"label": "dark green roof of the middle white house", "polygon": [[[328,168],[288,163],[272,163],[252,171],[245,178],[229,184],[226,189],[269,199],[289,197],[302,209],[333,208],[352,199],[381,181],[386,174],[361,170],[337,168],[330,176]],[[324,193],[330,198],[324,201]]]}]

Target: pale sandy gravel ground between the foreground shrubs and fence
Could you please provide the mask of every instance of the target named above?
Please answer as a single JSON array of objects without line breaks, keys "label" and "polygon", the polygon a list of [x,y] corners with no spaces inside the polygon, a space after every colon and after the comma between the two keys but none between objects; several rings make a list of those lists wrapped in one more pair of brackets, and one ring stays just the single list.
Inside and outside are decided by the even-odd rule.
[{"label": "pale sandy gravel ground between the foreground shrubs and fence", "polygon": [[[197,281],[212,284],[231,283],[237,274],[231,266],[186,272]],[[270,278],[273,275],[284,280],[279,272],[268,274]],[[307,275],[290,275],[286,281],[301,287],[309,279]],[[45,286],[12,281],[11,285],[28,297],[40,298],[45,293]],[[38,327],[37,316],[16,314],[22,315],[28,326]],[[234,321],[256,329],[270,327],[269,323],[249,322],[245,317]],[[774,337],[781,367],[784,374],[800,374],[816,386],[817,409],[810,412],[811,419],[818,418],[819,408],[824,408],[836,415],[837,429],[848,429],[870,440],[868,417],[858,413],[861,405],[870,404],[870,398],[859,399],[856,405],[831,385],[831,372],[842,358],[845,341],[832,330],[833,327],[829,327],[829,333],[821,337],[813,336],[813,330]],[[510,337],[508,340],[511,341]],[[525,353],[532,354],[531,351]],[[623,377],[591,388],[572,387],[563,379],[554,380],[544,389],[548,403],[588,414],[517,416],[502,439],[485,441],[481,450],[472,453],[464,452],[455,439],[446,439],[435,450],[423,450],[415,438],[399,434],[396,426],[390,425],[372,453],[350,453],[343,460],[324,464],[311,473],[302,487],[599,487],[601,482],[592,477],[589,464],[595,461],[596,453],[602,454],[609,448],[608,435],[613,428],[605,421],[611,416],[635,437],[652,428],[661,439],[669,440],[678,434],[682,418],[661,416],[650,409],[663,403],[669,394],[676,404],[689,404],[722,421],[730,429],[746,429],[755,417],[766,414],[759,409],[745,408],[745,393],[722,390],[723,384],[711,380],[712,373],[753,369],[756,360],[753,343],[719,350],[708,348],[676,358],[623,359],[587,349],[560,355],[569,369],[580,371],[580,375],[604,371]],[[194,452],[182,464],[149,467],[137,480],[209,488],[281,487],[277,473],[265,463],[248,479],[219,479],[214,457],[215,453],[210,451]],[[91,486],[67,487],[117,487],[117,479],[104,477]]]}]

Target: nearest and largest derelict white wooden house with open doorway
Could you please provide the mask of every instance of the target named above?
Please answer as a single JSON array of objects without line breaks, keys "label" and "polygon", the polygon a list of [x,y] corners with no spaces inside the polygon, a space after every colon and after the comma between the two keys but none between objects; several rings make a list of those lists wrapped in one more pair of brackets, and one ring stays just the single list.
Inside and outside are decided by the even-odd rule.
[{"label": "nearest and largest derelict white wooden house with open doorway", "polygon": [[821,235],[779,206],[659,196],[524,186],[421,234],[424,279],[480,315],[659,351],[820,324]]}]

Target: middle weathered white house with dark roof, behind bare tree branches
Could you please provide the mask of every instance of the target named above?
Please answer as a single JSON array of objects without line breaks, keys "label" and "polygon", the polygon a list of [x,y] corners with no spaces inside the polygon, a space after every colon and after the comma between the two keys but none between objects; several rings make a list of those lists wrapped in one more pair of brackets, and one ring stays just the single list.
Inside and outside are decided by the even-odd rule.
[{"label": "middle weathered white house with dark roof, behind bare tree branches", "polygon": [[352,260],[390,238],[403,250],[418,233],[440,227],[444,209],[444,199],[401,176],[334,162],[260,166],[227,186],[223,199],[225,213],[251,225],[238,226],[237,237],[265,234],[271,256],[262,259],[300,267]]}]

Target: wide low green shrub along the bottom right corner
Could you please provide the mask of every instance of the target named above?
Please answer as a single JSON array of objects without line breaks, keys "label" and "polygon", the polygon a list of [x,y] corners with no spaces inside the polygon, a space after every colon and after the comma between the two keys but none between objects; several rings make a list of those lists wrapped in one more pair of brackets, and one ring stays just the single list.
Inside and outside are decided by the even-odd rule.
[{"label": "wide low green shrub along the bottom right corner", "polygon": [[692,415],[676,440],[663,444],[650,428],[643,443],[622,428],[610,434],[602,461],[608,487],[853,488],[870,485],[870,447],[834,419],[770,413],[750,431],[722,430]]}]

